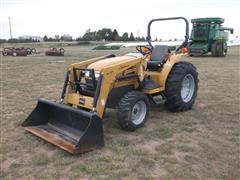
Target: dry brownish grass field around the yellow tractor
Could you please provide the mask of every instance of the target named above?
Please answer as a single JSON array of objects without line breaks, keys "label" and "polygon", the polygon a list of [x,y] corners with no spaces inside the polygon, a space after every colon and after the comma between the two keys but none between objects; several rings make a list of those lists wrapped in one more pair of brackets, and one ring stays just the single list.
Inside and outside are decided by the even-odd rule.
[{"label": "dry brownish grass field around the yellow tractor", "polygon": [[27,133],[21,123],[38,97],[59,100],[70,63],[134,50],[92,48],[66,47],[65,57],[0,56],[0,179],[240,179],[239,47],[225,58],[186,58],[200,80],[190,111],[152,107],[145,126],[128,133],[108,109],[102,149],[73,156]]}]

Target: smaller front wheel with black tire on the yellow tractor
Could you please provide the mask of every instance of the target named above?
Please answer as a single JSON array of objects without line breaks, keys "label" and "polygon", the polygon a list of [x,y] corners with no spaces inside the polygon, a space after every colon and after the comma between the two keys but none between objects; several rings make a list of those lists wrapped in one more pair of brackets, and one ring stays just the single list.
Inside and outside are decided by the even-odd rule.
[{"label": "smaller front wheel with black tire on the yellow tractor", "polygon": [[[140,109],[136,107],[142,104]],[[145,108],[144,108],[144,107]],[[137,109],[137,111],[136,111]],[[117,122],[126,131],[134,131],[142,127],[148,119],[150,103],[148,97],[140,91],[130,91],[126,93],[118,102]],[[136,113],[134,112],[136,111]],[[139,118],[134,120],[134,113],[142,113]]]}]

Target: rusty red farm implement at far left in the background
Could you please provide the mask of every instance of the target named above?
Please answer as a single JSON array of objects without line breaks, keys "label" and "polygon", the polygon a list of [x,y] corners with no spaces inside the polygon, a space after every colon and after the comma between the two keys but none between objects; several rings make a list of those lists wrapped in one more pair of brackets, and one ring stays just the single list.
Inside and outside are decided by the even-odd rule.
[{"label": "rusty red farm implement at far left in the background", "polygon": [[35,48],[14,48],[14,47],[10,47],[10,48],[4,48],[2,51],[2,55],[3,56],[27,56],[30,54],[34,54],[36,53],[36,49]]}]

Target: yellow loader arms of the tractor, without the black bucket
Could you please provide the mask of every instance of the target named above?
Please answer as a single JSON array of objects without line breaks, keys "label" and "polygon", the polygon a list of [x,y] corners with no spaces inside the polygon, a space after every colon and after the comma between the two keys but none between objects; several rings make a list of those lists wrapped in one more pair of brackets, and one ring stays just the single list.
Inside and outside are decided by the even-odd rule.
[{"label": "yellow loader arms of the tractor, without the black bucket", "polygon": [[[69,83],[67,94],[64,99],[65,104],[96,112],[98,116],[102,118],[108,95],[113,87],[125,85],[134,85],[134,87],[138,87],[139,81],[143,79],[143,65],[145,60],[133,56],[127,56],[126,59],[127,60],[120,61],[114,65],[104,67],[100,70],[100,77],[98,79],[96,92],[93,97],[76,92],[71,86],[71,83]],[[87,66],[91,64],[91,62],[95,62],[95,60],[88,61],[88,63],[84,61],[70,65],[69,81],[74,82],[74,68],[90,67],[89,69],[91,69],[91,65]],[[132,74],[130,74],[131,76],[124,75],[124,72],[128,71],[132,67],[134,67],[133,69],[135,72],[132,72]],[[81,72],[79,72],[77,75],[80,76]],[[124,81],[122,81],[122,79],[124,79]],[[84,104],[81,104],[80,102],[84,102]]]}]

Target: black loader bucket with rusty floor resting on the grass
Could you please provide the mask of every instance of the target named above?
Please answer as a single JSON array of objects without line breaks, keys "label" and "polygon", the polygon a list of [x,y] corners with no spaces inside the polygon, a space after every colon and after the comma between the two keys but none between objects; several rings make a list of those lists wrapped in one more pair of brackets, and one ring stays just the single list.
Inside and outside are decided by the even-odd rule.
[{"label": "black loader bucket with rusty floor resting on the grass", "polygon": [[73,154],[104,145],[102,119],[96,113],[46,99],[38,100],[36,108],[22,126]]}]

